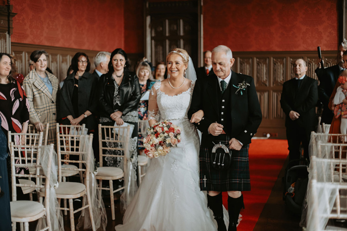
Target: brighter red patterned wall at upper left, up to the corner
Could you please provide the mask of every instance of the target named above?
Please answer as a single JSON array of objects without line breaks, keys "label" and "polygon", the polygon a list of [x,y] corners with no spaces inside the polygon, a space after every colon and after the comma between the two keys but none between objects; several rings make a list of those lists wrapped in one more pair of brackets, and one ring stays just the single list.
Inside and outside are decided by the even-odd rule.
[{"label": "brighter red patterned wall at upper left, up to the corner", "polygon": [[124,46],[124,0],[11,0],[11,42],[112,51]]}]

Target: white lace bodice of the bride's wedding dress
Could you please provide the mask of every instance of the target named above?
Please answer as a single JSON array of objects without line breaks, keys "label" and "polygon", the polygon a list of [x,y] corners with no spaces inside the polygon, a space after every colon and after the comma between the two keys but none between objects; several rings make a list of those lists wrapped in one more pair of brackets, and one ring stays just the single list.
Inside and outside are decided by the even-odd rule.
[{"label": "white lace bodice of the bride's wedding dress", "polygon": [[[165,92],[160,91],[161,82],[153,85],[151,94],[157,94],[157,105],[159,112],[150,111],[149,119],[156,119],[159,121],[158,115],[161,120],[177,120],[187,118],[187,112],[190,107],[191,95],[195,86],[195,82],[191,82],[190,88],[178,95],[167,95]],[[156,92],[154,92],[156,91]]]}]

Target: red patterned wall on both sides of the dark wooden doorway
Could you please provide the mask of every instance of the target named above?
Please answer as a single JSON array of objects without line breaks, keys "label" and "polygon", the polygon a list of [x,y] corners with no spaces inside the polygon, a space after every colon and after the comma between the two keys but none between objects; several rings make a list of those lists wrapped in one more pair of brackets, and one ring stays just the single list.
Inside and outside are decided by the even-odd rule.
[{"label": "red patterned wall on both sides of the dark wooden doorway", "polygon": [[[203,0],[204,49],[223,44],[233,51],[300,51],[317,46],[336,50],[337,1]],[[12,0],[11,4],[18,13],[12,42],[144,52],[143,0]]]}]

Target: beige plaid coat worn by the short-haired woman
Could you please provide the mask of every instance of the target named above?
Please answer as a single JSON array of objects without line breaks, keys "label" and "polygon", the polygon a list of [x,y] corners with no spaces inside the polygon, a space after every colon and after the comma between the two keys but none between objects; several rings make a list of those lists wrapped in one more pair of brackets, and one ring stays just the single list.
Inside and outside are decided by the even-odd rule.
[{"label": "beige plaid coat worn by the short-haired woman", "polygon": [[23,88],[30,104],[29,120],[31,124],[41,122],[44,125],[50,123],[50,131],[47,143],[56,143],[57,123],[57,92],[59,81],[56,76],[46,71],[53,87],[53,94],[33,69],[24,78]]}]

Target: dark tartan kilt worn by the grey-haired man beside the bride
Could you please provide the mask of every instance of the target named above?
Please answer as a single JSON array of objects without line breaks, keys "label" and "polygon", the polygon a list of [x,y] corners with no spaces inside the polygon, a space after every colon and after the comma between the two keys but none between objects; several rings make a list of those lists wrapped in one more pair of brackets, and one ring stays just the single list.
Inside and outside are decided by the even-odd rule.
[{"label": "dark tartan kilt worn by the grey-haired man beside the bride", "polygon": [[[221,142],[229,146],[229,136],[219,138],[215,143]],[[250,191],[249,144],[239,151],[231,150],[231,164],[227,170],[217,170],[212,167],[212,147],[200,147],[200,190],[202,191]]]}]

